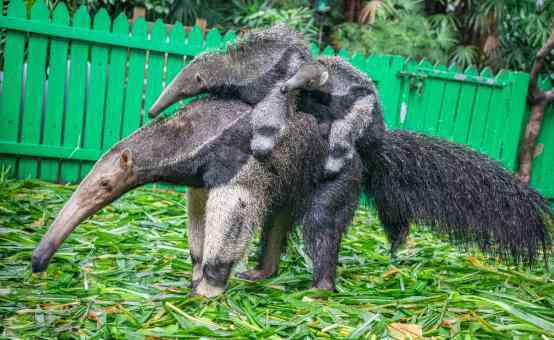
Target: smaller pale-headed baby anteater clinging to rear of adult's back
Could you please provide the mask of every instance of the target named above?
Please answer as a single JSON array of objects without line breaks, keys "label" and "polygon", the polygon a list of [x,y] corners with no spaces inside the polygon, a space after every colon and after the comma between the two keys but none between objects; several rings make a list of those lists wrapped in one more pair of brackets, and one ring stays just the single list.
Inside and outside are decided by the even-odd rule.
[{"label": "smaller pale-headed baby anteater clinging to rear of adult's back", "polygon": [[353,158],[358,143],[377,146],[385,131],[377,90],[366,74],[340,57],[306,63],[283,85],[301,89],[299,110],[330,124],[325,170],[336,175]]}]

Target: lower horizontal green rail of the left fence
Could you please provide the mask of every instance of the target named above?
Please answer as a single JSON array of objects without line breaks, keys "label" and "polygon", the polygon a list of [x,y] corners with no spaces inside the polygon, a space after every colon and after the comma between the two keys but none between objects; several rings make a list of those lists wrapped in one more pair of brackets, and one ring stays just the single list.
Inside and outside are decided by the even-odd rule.
[{"label": "lower horizontal green rail of the left fence", "polygon": [[102,151],[98,149],[71,148],[66,146],[19,142],[0,142],[0,153],[28,157],[34,157],[40,154],[41,157],[71,159],[74,161],[96,161],[102,155]]}]

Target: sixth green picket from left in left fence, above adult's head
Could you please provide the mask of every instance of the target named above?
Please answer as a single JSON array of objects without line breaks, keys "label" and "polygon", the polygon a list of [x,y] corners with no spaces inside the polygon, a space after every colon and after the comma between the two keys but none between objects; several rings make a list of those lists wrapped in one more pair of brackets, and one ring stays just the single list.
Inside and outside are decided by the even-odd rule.
[{"label": "sixth green picket from left in left fence, above adult's head", "polygon": [[[123,13],[115,19],[112,31],[117,35],[129,34],[129,24],[127,23],[127,17]],[[127,52],[128,50],[122,47],[114,47],[110,51],[108,92],[106,94],[104,135],[102,137],[103,150],[109,149],[119,141],[121,135]]]}]

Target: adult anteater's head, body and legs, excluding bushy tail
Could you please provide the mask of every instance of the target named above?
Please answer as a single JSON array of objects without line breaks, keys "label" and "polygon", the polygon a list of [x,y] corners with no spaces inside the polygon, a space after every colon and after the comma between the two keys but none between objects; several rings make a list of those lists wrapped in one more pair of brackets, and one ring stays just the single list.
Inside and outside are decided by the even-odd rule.
[{"label": "adult anteater's head, body and legs, excluding bushy tail", "polygon": [[[276,98],[288,103],[286,94]],[[252,278],[275,274],[286,231],[294,222],[311,223],[306,230],[313,230],[316,239],[319,223],[325,222],[326,229],[340,225],[321,245],[332,251],[319,248],[323,255],[310,251],[314,286],[334,288],[336,258],[330,257],[338,256],[337,234],[351,221],[357,205],[361,163],[345,173],[344,185],[336,181],[316,197],[323,171],[320,160],[327,152],[316,120],[304,114],[287,116],[284,138],[262,163],[250,153],[251,114],[251,107],[243,102],[206,98],[120,141],[96,162],[59,212],[33,252],[33,271],[47,267],[83,219],[137,186],[161,181],[190,188],[194,293],[214,296],[223,292],[233,264],[243,257],[254,230],[262,226],[263,255],[258,275],[256,270],[250,274]],[[333,209],[323,209],[331,217],[321,221],[319,213],[310,211],[319,207],[318,197],[325,195],[341,199],[333,200]]]}]

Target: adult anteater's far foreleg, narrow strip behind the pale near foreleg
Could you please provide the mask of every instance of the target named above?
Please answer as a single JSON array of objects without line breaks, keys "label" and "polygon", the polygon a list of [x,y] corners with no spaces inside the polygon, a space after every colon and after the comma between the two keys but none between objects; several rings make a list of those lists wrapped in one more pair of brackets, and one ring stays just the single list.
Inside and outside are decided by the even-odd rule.
[{"label": "adult anteater's far foreleg, narrow strip behind the pale near foreleg", "polygon": [[202,253],[204,248],[204,228],[206,227],[206,202],[208,189],[189,188],[187,190],[188,206],[188,241],[192,259],[192,288],[195,288],[202,277]]}]

